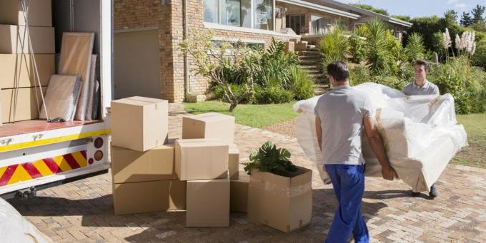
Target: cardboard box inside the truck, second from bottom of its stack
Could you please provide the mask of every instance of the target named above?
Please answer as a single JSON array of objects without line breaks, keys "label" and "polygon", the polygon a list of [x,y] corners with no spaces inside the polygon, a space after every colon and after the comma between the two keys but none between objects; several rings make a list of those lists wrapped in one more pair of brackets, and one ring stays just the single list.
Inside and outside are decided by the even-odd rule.
[{"label": "cardboard box inside the truck, second from bottom of its stack", "polygon": [[[35,59],[41,86],[47,86],[54,74],[54,54],[38,54]],[[30,54],[0,54],[0,66],[0,88],[15,88],[17,76],[19,88],[39,86]]]}]

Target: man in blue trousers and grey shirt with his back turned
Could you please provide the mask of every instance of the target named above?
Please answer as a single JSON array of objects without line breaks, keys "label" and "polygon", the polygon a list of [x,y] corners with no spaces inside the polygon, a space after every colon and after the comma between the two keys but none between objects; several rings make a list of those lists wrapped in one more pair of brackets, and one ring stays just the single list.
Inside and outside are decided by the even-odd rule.
[{"label": "man in blue trousers and grey shirt with his back turned", "polygon": [[349,86],[346,64],[342,61],[330,63],[327,76],[332,91],[319,98],[314,110],[324,167],[339,202],[326,242],[348,242],[351,234],[356,242],[370,242],[360,210],[365,168],[360,136],[363,128],[382,165],[383,178],[393,180],[396,172],[390,166],[382,138],[373,125],[370,98]]}]

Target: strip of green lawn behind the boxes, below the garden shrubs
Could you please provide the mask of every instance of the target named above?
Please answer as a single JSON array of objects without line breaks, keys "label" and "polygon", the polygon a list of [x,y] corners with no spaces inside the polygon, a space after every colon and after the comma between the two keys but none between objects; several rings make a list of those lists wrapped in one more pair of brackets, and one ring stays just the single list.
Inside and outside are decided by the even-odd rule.
[{"label": "strip of green lawn behind the boxes, below the garden shrubs", "polygon": [[262,128],[267,125],[281,123],[297,116],[292,110],[294,103],[269,104],[269,105],[238,105],[232,113],[228,111],[229,104],[218,101],[206,101],[202,103],[184,103],[187,112],[193,114],[217,112],[234,115],[238,124],[249,125],[254,128]]}]

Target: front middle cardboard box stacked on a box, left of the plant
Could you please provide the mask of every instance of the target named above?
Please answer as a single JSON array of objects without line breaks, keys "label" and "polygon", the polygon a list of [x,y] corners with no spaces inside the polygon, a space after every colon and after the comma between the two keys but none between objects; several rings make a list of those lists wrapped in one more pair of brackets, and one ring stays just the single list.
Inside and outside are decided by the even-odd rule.
[{"label": "front middle cardboard box stacked on a box, left of the plant", "polygon": [[179,180],[228,177],[228,145],[222,140],[176,140],[175,156],[175,170]]}]

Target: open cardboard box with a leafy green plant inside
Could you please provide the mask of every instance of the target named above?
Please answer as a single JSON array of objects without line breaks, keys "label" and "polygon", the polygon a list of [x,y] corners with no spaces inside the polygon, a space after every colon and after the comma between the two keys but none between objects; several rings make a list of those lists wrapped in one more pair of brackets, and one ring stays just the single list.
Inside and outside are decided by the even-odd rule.
[{"label": "open cardboard box with a leafy green plant inside", "polygon": [[291,232],[310,223],[312,170],[292,164],[290,152],[267,141],[249,155],[248,217]]}]

